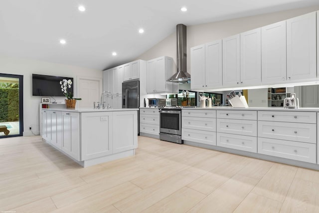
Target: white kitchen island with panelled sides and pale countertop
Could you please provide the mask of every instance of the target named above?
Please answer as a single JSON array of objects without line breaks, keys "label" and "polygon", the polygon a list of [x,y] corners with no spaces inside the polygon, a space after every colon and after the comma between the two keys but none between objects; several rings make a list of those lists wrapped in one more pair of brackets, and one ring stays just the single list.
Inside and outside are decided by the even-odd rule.
[{"label": "white kitchen island with panelled sides and pale countertop", "polygon": [[139,109],[42,109],[43,140],[83,167],[133,156]]}]

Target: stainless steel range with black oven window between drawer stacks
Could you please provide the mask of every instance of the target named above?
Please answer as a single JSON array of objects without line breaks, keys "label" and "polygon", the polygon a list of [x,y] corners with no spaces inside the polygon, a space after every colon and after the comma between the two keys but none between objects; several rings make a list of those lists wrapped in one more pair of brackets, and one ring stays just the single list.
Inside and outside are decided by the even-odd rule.
[{"label": "stainless steel range with black oven window between drawer stacks", "polygon": [[182,144],[181,109],[179,107],[160,108],[160,140]]}]

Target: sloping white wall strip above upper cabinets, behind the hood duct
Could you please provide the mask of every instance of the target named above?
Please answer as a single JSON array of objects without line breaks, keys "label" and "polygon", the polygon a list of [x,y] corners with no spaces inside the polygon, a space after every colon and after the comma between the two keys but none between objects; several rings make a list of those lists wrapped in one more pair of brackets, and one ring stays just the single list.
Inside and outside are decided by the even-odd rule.
[{"label": "sloping white wall strip above upper cabinets, behind the hood duct", "polygon": [[[190,47],[222,39],[316,10],[319,10],[319,5],[187,26],[187,72],[190,74],[192,72],[192,70],[190,70],[189,59]],[[175,63],[174,67],[176,67],[176,32],[167,36],[151,49],[137,57],[137,59],[150,60],[163,55],[172,57]]]}]

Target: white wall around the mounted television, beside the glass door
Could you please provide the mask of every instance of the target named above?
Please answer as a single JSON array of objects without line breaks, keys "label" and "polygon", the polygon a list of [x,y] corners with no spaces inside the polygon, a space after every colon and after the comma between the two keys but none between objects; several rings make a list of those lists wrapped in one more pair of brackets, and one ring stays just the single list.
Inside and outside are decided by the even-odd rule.
[{"label": "white wall around the mounted television, beside the glass door", "polygon": [[[41,97],[32,96],[32,73],[73,77],[75,97],[77,95],[77,76],[102,78],[101,70],[6,56],[0,56],[0,73],[23,75],[24,136],[32,135],[29,126],[32,127],[33,133],[39,134],[39,103],[41,103]],[[60,87],[60,85],[56,86]],[[64,102],[64,99],[64,97],[56,98],[57,102]]]}]

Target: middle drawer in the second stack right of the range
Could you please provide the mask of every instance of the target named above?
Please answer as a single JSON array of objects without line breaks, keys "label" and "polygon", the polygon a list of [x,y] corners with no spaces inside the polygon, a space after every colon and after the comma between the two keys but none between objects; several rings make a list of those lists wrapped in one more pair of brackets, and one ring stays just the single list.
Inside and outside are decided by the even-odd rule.
[{"label": "middle drawer in the second stack right of the range", "polygon": [[257,121],[217,119],[217,132],[257,136]]}]

